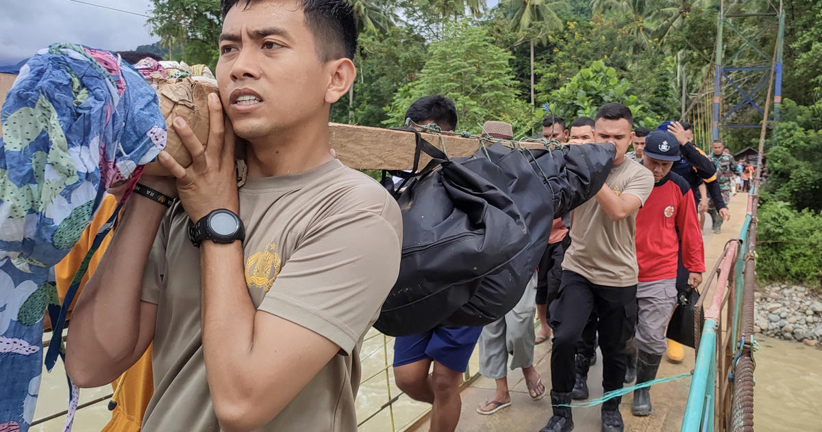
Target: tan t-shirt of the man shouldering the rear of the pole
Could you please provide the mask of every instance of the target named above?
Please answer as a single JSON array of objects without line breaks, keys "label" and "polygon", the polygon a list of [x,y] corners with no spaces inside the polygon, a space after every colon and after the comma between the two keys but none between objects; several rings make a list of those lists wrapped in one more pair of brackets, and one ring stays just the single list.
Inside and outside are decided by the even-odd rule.
[{"label": "tan t-shirt of the man shouldering the rear of the pole", "polygon": [[[605,183],[614,193],[629,193],[644,204],[653,189],[653,174],[626,159],[611,169]],[[596,285],[636,285],[636,211],[615,222],[591,198],[571,211],[570,217],[571,242],[562,268],[579,273]]]}]

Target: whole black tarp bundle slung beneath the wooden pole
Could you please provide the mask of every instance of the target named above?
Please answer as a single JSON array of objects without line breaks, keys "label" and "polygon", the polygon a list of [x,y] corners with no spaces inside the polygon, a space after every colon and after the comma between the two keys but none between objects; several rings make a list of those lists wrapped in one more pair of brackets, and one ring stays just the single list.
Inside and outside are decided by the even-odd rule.
[{"label": "whole black tarp bundle slung beneath the wooden pole", "polygon": [[374,324],[390,336],[482,326],[513,309],[554,217],[602,188],[616,154],[612,144],[528,150],[495,143],[449,159],[418,135],[420,151],[432,162],[395,193],[402,260]]}]

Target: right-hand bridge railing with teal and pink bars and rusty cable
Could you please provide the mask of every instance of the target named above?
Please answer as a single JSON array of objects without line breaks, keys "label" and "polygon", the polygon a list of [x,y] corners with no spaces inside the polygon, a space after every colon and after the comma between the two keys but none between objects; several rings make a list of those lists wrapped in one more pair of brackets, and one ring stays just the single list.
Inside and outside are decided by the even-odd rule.
[{"label": "right-hand bridge railing with teal and pink bars and rusty cable", "polygon": [[[699,343],[682,432],[754,430],[754,290],[758,186],[738,239],[728,241],[695,308]],[[702,303],[713,291],[708,309]]]}]

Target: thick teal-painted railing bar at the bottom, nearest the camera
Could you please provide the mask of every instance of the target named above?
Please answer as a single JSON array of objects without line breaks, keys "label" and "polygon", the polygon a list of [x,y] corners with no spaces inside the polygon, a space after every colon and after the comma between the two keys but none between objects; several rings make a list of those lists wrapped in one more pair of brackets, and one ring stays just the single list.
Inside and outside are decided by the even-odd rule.
[{"label": "thick teal-painted railing bar at the bottom, nearest the camera", "polygon": [[[682,419],[681,432],[697,432],[700,430],[705,408],[705,397],[709,394],[709,379],[714,374],[712,365],[716,360],[716,328],[716,321],[713,319],[705,320],[702,327],[702,337],[700,337],[700,351],[696,355],[694,377],[690,379],[688,402],[685,406],[685,417]],[[713,384],[710,391],[713,392]]]}]

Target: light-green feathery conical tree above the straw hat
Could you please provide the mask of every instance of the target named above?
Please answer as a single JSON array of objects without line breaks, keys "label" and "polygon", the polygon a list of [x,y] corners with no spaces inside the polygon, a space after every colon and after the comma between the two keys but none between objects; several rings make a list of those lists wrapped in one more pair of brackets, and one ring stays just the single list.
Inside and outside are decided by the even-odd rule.
[{"label": "light-green feathery conical tree above the straw hat", "polygon": [[444,95],[454,100],[459,130],[478,133],[487,120],[512,123],[515,131],[529,130],[531,110],[518,99],[510,58],[505,49],[492,44],[483,27],[468,26],[465,21],[448,26],[445,37],[428,46],[418,79],[395,94],[383,124],[401,125],[414,100]]}]

